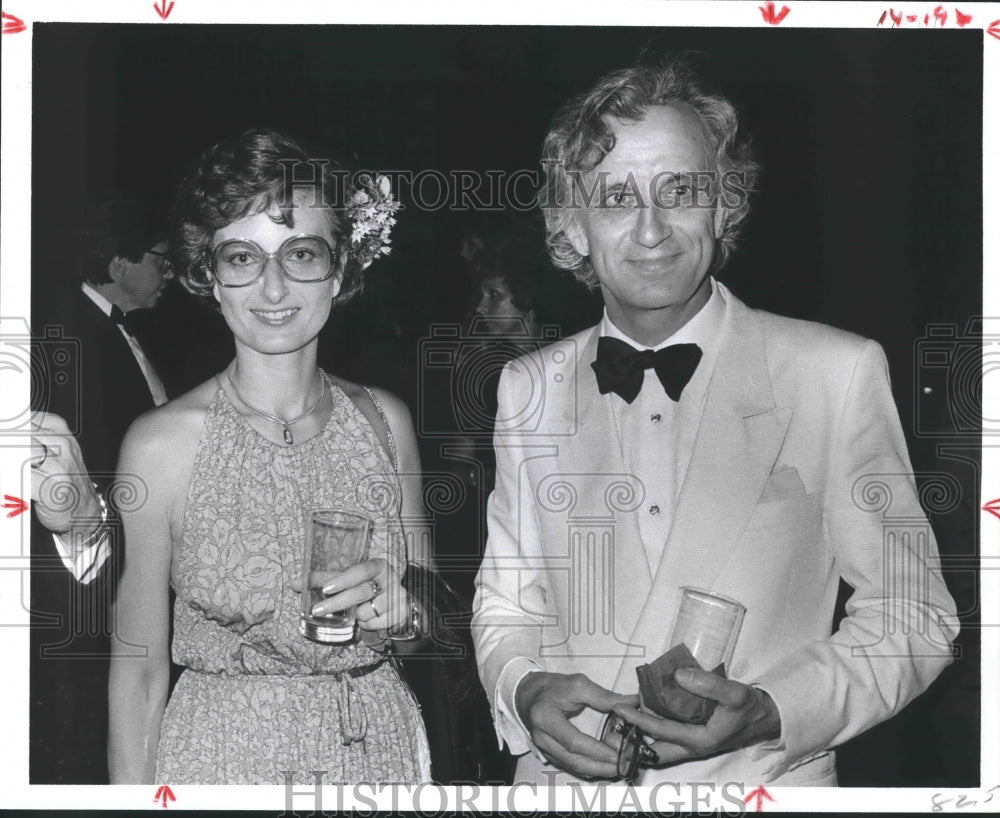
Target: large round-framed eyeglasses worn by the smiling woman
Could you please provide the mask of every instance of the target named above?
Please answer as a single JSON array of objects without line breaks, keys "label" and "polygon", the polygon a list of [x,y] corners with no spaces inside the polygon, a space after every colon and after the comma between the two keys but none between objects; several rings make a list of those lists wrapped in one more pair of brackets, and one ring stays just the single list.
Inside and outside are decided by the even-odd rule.
[{"label": "large round-framed eyeglasses worn by the smiling woman", "polygon": [[212,251],[212,273],[223,287],[248,287],[271,259],[292,281],[313,283],[333,275],[333,248],[319,236],[292,236],[273,253],[250,239],[230,239]]}]

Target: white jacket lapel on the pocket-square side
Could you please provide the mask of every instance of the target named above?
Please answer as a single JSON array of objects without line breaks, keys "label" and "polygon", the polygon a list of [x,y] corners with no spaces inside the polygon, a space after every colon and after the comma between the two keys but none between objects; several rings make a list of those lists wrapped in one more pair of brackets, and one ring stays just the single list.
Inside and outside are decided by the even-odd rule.
[{"label": "white jacket lapel on the pocket-square side", "polygon": [[[649,604],[630,639],[646,646],[646,661],[667,647],[680,588],[712,588],[753,512],[792,416],[790,408],[775,405],[759,320],[734,296],[727,299],[725,336],[674,523]],[[634,687],[637,664],[623,662],[622,689]]]}]

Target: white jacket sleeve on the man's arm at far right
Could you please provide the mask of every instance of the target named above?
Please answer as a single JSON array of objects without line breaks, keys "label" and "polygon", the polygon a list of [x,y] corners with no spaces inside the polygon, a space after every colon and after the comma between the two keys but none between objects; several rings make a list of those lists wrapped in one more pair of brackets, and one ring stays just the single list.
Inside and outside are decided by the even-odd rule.
[{"label": "white jacket sleeve on the man's arm at far right", "polygon": [[[790,654],[755,681],[781,712],[783,752],[774,774],[899,712],[951,662],[958,634],[888,364],[874,341],[858,356],[833,452],[824,533],[854,594],[835,634]],[[873,487],[888,492],[885,514],[865,506]],[[917,529],[926,539],[913,533]],[[817,708],[816,702],[825,704]]]}]

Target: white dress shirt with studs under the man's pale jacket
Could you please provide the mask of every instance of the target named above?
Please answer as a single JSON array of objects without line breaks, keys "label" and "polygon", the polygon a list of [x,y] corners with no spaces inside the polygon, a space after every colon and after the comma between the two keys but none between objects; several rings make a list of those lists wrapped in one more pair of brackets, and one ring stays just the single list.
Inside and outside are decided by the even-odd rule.
[{"label": "white dress shirt with studs under the man's pale jacket", "polygon": [[[670,533],[677,496],[691,462],[698,419],[708,394],[708,383],[715,368],[726,320],[725,295],[716,286],[715,279],[710,279],[710,282],[712,292],[705,306],[677,332],[653,347],[654,350],[675,344],[697,344],[701,347],[701,361],[680,400],[675,403],[670,399],[652,368],[646,370],[639,395],[631,404],[613,392],[602,396],[614,418],[617,431],[615,443],[621,447],[625,467],[645,489],[643,504],[635,513],[639,515],[639,531],[650,574],[656,573]],[[599,332],[601,336],[616,338],[636,349],[649,348],[616,327],[608,318],[607,310]],[[593,388],[597,389],[596,383]],[[517,686],[529,673],[542,669],[533,659],[518,657],[507,663],[497,679],[494,701],[498,716],[508,725],[516,724],[522,734],[519,737],[522,740],[511,742],[511,751],[515,754],[523,752],[524,747],[530,747],[539,758],[542,757],[531,744],[528,731],[514,705]],[[500,729],[497,736],[502,747]]]}]

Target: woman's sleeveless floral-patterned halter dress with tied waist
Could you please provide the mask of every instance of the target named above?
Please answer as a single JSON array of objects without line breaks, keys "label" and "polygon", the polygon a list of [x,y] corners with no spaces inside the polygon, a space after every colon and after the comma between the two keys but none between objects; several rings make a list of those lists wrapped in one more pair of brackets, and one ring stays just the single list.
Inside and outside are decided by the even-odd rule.
[{"label": "woman's sleeveless floral-patterned halter dress with tied waist", "polygon": [[[171,784],[430,781],[420,710],[391,659],[360,640],[299,634],[305,515],[370,517],[370,556],[402,574],[394,464],[354,402],[329,381],[330,419],[291,446],[254,430],[220,387],[208,409],[171,585],[173,659],[156,780]],[[377,404],[376,404],[377,405]],[[379,407],[381,412],[381,407]]]}]

